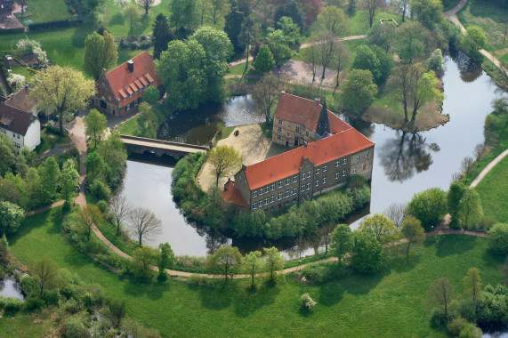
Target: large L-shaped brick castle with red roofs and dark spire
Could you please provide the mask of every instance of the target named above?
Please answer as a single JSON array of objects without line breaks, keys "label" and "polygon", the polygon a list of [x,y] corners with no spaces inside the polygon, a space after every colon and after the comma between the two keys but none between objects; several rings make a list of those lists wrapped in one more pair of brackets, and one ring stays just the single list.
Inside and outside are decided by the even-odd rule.
[{"label": "large L-shaped brick castle with red roofs and dark spire", "polygon": [[339,188],[351,174],[372,178],[375,144],[326,102],[282,93],[273,128],[274,142],[297,148],[244,165],[225,184],[222,197],[240,209],[280,209]]}]

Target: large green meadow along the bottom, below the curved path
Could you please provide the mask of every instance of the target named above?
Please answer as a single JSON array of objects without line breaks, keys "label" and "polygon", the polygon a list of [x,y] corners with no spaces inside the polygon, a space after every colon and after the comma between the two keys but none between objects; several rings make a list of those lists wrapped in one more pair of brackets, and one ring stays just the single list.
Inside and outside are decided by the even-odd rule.
[{"label": "large green meadow along the bottom, below the curved path", "polygon": [[[426,290],[447,277],[462,292],[462,278],[475,266],[484,284],[502,281],[502,260],[488,254],[484,238],[432,237],[408,263],[397,261],[375,276],[348,274],[321,286],[302,285],[287,277],[277,286],[247,291],[247,281],[196,286],[173,281],[143,285],[120,278],[80,254],[60,234],[60,209],[28,218],[9,237],[14,254],[31,266],[43,255],[86,282],[98,283],[109,296],[125,299],[127,314],[165,336],[444,336],[431,328]],[[310,293],[318,305],[299,310],[298,298]],[[22,322],[23,319],[20,319]],[[359,324],[361,322],[361,324]],[[5,336],[27,336],[31,326]]]}]

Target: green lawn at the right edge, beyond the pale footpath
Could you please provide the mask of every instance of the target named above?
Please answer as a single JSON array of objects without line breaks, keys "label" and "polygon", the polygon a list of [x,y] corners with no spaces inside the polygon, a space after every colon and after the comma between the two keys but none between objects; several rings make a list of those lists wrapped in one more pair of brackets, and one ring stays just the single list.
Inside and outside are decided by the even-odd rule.
[{"label": "green lawn at the right edge, beyond the pale footpath", "polygon": [[481,197],[483,213],[488,218],[508,223],[508,157],[492,168],[476,190]]}]

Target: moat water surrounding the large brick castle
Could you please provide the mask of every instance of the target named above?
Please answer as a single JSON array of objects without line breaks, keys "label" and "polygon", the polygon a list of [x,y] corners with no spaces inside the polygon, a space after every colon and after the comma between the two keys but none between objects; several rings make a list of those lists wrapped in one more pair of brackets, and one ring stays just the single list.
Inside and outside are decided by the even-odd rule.
[{"label": "moat water surrounding the large brick castle", "polygon": [[[472,67],[466,59],[447,57],[445,60],[443,113],[450,116],[448,124],[422,133],[401,133],[379,124],[353,124],[376,145],[371,203],[348,220],[352,228],[358,227],[360,217],[383,213],[394,202],[407,203],[423,189],[448,189],[462,159],[472,156],[475,145],[483,142],[485,117],[492,110],[491,101],[496,98],[497,87],[489,76]],[[192,116],[173,117],[166,121],[159,136],[164,135],[166,140],[205,144],[221,123],[246,125],[262,120],[249,97],[236,97],[222,108],[206,107]],[[151,160],[143,163],[139,157],[131,157],[125,174],[125,196],[136,205],[149,207],[164,225],[163,233],[147,243],[168,242],[175,254],[189,255],[206,255],[226,243],[238,246],[243,253],[269,245],[253,240],[231,242],[230,238],[186,221],[171,197],[174,162],[168,158],[157,161],[158,164]],[[285,250],[287,257],[294,254],[293,241],[274,245]],[[312,253],[313,249],[309,249],[305,254]]]}]

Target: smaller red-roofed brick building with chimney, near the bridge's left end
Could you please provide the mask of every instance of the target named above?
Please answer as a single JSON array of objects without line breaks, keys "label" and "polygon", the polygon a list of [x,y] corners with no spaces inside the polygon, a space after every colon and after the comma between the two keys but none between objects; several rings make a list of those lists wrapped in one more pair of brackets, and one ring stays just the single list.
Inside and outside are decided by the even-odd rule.
[{"label": "smaller red-roofed brick building with chimney, near the bridge's left end", "polygon": [[162,88],[151,55],[141,52],[133,60],[102,72],[95,84],[97,94],[92,104],[103,112],[122,116],[141,103],[149,85],[155,85],[159,90]]}]

